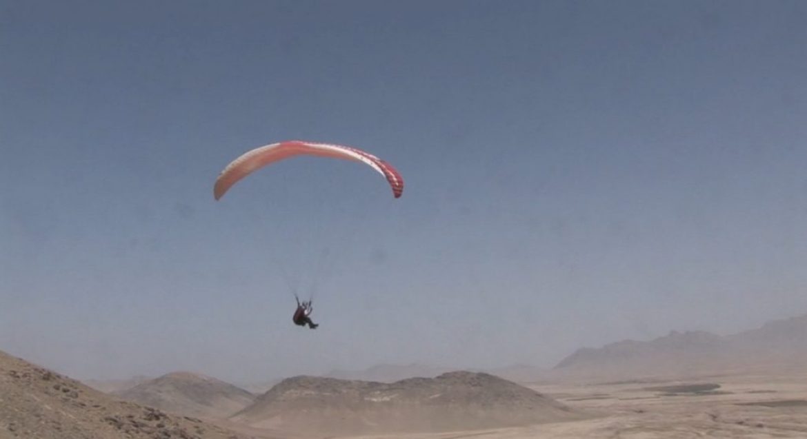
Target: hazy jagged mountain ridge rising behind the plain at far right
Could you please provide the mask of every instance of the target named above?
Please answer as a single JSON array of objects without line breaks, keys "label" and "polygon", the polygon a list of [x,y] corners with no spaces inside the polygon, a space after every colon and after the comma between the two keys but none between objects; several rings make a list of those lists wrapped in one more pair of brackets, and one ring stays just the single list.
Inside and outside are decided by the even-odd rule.
[{"label": "hazy jagged mountain ridge rising behind the plain at far right", "polygon": [[807,316],[775,320],[761,328],[718,336],[676,332],[650,341],[618,341],[578,349],[554,371],[575,374],[635,375],[729,373],[807,365]]}]

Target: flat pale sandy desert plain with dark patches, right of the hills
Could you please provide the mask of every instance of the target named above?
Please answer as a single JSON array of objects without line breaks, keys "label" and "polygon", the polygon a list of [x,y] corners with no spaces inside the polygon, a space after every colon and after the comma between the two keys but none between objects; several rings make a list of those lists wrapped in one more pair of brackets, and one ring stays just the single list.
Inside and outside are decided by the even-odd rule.
[{"label": "flat pale sandy desert plain with dark patches, right of the hills", "polygon": [[[609,438],[681,439],[805,438],[807,437],[807,373],[791,376],[764,374],[734,377],[693,377],[667,383],[689,387],[720,384],[721,394],[671,395],[648,389],[646,384],[541,385],[537,390],[554,396],[573,408],[595,412],[599,417],[512,429],[464,431],[444,434],[396,436],[408,439],[479,438]],[[692,387],[698,388],[698,387]],[[365,436],[380,439],[389,436]]]}]

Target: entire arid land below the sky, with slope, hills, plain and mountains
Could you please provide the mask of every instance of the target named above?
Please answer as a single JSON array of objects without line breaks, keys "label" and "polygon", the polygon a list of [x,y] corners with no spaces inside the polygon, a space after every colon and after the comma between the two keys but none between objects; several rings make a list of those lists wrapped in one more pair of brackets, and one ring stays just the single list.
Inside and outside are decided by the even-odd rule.
[{"label": "entire arid land below the sky, with slope, hills, plain and mountains", "polygon": [[519,383],[385,365],[366,373],[435,376],[298,376],[259,394],[186,372],[95,382],[104,394],[0,353],[0,439],[807,437],[805,339],[797,317],[579,349],[553,370],[502,369]]}]

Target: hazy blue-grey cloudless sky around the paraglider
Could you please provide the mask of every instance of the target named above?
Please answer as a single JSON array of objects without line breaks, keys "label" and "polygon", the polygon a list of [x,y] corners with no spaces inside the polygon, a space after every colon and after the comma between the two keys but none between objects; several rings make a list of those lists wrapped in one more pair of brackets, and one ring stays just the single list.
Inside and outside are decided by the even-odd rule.
[{"label": "hazy blue-grey cloudless sky around the paraglider", "polygon": [[[2,0],[0,102],[0,349],[74,378],[551,367],[807,313],[805,2]],[[290,139],[403,197],[298,157],[213,199]]]}]

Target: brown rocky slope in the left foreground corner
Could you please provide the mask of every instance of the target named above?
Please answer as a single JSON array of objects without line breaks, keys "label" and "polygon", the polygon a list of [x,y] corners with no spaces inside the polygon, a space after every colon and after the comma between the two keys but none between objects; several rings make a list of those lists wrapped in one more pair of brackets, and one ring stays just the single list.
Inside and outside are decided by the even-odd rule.
[{"label": "brown rocky slope in the left foreground corner", "polygon": [[198,419],[115,399],[3,352],[0,352],[0,437],[242,438]]}]

